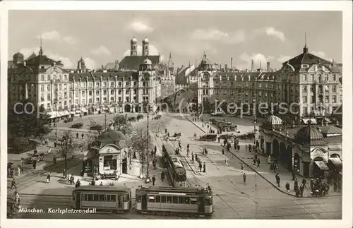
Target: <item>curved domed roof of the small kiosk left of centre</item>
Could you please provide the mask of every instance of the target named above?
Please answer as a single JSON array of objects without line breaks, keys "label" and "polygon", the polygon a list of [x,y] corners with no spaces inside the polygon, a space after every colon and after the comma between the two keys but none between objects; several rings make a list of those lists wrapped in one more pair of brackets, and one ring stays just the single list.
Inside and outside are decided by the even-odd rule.
[{"label": "curved domed roof of the small kiosk left of centre", "polygon": [[110,130],[102,133],[98,136],[97,142],[101,143],[100,148],[104,145],[114,144],[119,149],[129,147],[131,145],[131,139],[127,138],[121,131]]}]

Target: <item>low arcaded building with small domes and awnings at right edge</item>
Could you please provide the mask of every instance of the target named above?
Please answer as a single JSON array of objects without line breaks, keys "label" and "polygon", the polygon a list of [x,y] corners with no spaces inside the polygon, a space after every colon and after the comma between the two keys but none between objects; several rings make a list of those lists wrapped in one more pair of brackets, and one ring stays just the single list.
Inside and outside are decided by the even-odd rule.
[{"label": "low arcaded building with small domes and awnings at right edge", "polygon": [[342,170],[342,129],[321,125],[285,126],[278,116],[268,116],[259,129],[263,155],[271,156],[301,176],[322,176],[329,164]]}]

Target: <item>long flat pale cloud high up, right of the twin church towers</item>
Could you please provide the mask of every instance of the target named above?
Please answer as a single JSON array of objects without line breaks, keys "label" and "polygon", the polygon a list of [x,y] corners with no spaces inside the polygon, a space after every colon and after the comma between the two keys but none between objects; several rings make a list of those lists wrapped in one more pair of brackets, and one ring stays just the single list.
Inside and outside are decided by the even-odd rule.
[{"label": "long flat pale cloud high up, right of the twin church towers", "polygon": [[245,41],[244,30],[238,30],[233,33],[223,32],[217,28],[208,28],[206,30],[196,29],[191,33],[192,40],[203,40],[203,41],[218,41],[225,42],[228,44],[236,44]]}]

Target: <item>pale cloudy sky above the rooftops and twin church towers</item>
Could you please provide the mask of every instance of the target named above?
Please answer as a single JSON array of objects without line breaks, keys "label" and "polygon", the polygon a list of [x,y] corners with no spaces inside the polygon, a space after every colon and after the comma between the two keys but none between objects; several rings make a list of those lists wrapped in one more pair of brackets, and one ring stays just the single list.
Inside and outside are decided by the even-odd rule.
[{"label": "pale cloudy sky above the rooftops and twin church towers", "polygon": [[[25,18],[25,19],[24,19]],[[121,60],[133,36],[150,40],[150,54],[169,52],[177,66],[210,61],[250,68],[279,68],[304,47],[324,59],[342,61],[342,14],[335,11],[9,11],[8,54],[37,52],[76,68]]]}]

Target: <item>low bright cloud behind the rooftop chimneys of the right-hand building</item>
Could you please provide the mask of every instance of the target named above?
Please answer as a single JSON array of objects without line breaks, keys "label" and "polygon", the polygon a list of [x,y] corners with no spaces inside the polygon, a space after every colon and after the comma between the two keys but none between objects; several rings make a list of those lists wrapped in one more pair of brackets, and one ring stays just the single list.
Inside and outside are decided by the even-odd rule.
[{"label": "low bright cloud behind the rooftop chimneys of the right-hand building", "polygon": [[241,60],[242,64],[239,64],[237,68],[239,69],[250,69],[251,68],[251,60],[253,60],[254,68],[261,68],[265,69],[266,64],[268,61],[273,59],[273,56],[265,56],[264,54],[257,53],[257,54],[247,54],[244,52],[243,54],[239,55],[239,59]]}]

